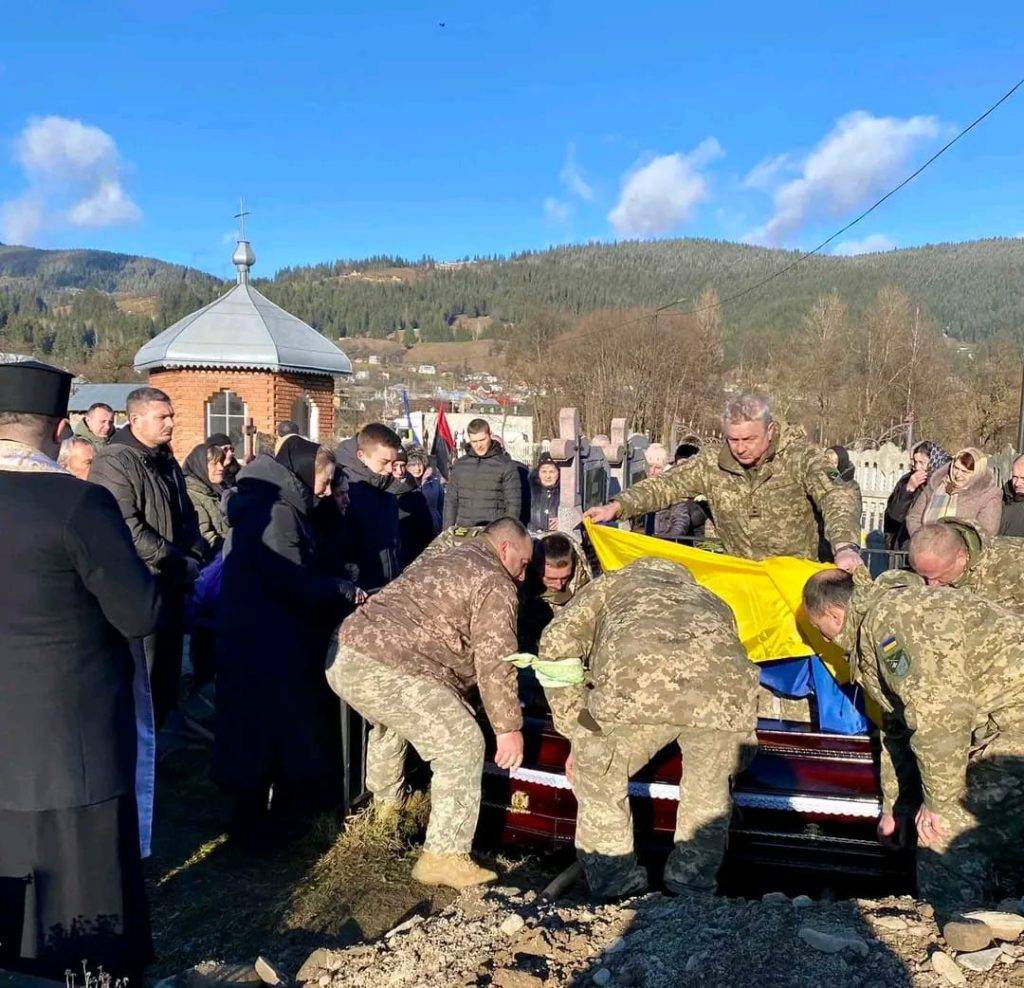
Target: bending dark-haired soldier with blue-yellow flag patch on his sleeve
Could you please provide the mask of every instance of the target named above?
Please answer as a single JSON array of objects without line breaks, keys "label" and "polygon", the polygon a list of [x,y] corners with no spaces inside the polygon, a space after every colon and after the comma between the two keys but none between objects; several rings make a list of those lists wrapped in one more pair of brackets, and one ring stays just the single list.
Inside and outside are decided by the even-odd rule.
[{"label": "bending dark-haired soldier with blue-yellow flag patch on his sleeve", "polygon": [[[1019,895],[1024,618],[976,594],[928,588],[915,573],[899,571],[871,584],[859,573],[825,570],[808,581],[804,604],[883,708],[888,757],[879,829],[885,837],[897,834],[915,785],[905,767],[916,767],[922,894],[943,919],[1000,888]],[[947,942],[962,933],[947,926]]]}]

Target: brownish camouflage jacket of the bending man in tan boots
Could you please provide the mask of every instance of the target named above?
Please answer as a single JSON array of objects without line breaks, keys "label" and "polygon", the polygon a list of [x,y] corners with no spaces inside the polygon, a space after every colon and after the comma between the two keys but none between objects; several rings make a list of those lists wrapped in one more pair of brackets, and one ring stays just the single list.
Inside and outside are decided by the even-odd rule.
[{"label": "brownish camouflage jacket of the bending man in tan boots", "polygon": [[480,690],[498,734],[522,726],[516,670],[516,584],[485,540],[417,560],[341,627],[338,641],[466,695]]}]

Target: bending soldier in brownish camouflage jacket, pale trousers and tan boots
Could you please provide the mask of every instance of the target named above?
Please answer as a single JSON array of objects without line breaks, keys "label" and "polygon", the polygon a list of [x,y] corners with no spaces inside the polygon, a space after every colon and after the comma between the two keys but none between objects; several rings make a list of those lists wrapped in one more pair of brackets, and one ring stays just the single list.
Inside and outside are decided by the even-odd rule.
[{"label": "bending soldier in brownish camouflage jacket, pale trousers and tan boots", "polygon": [[[480,810],[483,735],[466,696],[479,689],[497,738],[495,762],[522,763],[516,671],[517,584],[532,554],[526,529],[502,518],[464,545],[417,562],[342,626],[327,678],[386,742],[372,745],[375,791],[401,785],[411,743],[433,771],[430,822],[413,877],[455,889],[490,882],[469,858]],[[390,775],[390,779],[388,776]],[[398,792],[392,792],[397,797]]]}]

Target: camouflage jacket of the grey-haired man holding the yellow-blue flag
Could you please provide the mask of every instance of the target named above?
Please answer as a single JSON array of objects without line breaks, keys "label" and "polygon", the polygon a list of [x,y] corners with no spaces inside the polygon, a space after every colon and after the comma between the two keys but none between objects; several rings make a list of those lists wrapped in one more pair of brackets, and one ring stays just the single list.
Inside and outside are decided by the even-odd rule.
[{"label": "camouflage jacket of the grey-haired man holding the yellow-blue flag", "polygon": [[741,467],[728,445],[708,447],[613,500],[622,505],[623,518],[635,518],[687,498],[708,502],[725,551],[743,559],[817,559],[815,508],[833,551],[860,545],[860,488],[841,480],[823,450],[782,423],[756,467]]}]

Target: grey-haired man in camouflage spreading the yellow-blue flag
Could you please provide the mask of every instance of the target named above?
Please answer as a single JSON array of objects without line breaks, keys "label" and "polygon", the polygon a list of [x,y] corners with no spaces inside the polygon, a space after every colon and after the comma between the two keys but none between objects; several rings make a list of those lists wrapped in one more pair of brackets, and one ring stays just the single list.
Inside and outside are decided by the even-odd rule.
[{"label": "grey-haired man in camouflage spreading the yellow-blue flag", "polygon": [[[671,472],[650,477],[591,508],[595,522],[635,518],[689,498],[708,502],[715,527],[733,556],[818,558],[818,515],[841,569],[860,566],[860,489],[845,483],[797,429],[772,418],[771,403],[744,394],[725,407],[726,442],[706,448]],[[817,512],[817,514],[815,514]]]}]

